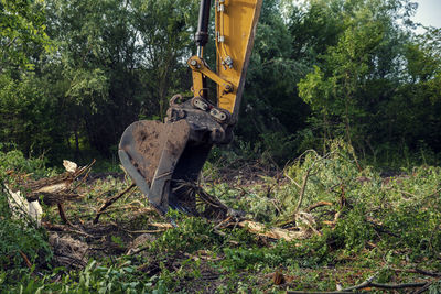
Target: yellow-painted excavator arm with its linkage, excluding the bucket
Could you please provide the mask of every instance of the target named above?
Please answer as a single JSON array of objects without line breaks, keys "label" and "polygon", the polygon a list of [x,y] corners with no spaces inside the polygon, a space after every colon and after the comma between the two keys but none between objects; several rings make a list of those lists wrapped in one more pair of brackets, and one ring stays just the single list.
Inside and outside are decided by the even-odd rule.
[{"label": "yellow-painted excavator arm with its linkage, excluding the bucket", "polygon": [[[251,54],[261,0],[216,0],[215,35],[216,73],[209,70],[203,62],[203,45],[198,44],[197,55],[189,59],[193,70],[194,97],[204,94],[204,77],[217,84],[217,107],[229,111],[234,121],[240,105],[245,76]],[[202,0],[201,13],[209,1]],[[202,15],[202,21],[204,21]],[[200,17],[201,19],[201,17]],[[200,25],[200,30],[205,29]],[[197,42],[197,41],[196,41]]]}]

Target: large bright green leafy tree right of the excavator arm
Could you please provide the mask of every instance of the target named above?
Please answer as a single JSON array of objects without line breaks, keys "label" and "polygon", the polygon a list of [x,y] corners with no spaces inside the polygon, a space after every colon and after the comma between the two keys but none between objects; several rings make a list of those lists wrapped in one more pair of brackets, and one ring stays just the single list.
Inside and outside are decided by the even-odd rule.
[{"label": "large bright green leafy tree right of the excavator arm", "polygon": [[300,96],[322,118],[324,138],[344,134],[359,149],[369,145],[372,138],[384,140],[386,105],[400,85],[409,37],[397,19],[406,19],[415,9],[406,3],[345,1],[345,29],[337,44],[329,46],[320,65],[299,83]]}]

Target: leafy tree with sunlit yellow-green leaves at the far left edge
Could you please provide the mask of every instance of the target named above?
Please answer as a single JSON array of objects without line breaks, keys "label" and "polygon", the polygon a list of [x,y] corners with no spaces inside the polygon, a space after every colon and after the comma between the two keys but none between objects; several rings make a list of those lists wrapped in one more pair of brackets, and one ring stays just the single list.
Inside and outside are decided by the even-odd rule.
[{"label": "leafy tree with sunlit yellow-green leaves at the far left edge", "polygon": [[55,104],[33,72],[39,55],[53,50],[43,6],[0,1],[0,143],[13,143],[25,154],[60,146]]}]

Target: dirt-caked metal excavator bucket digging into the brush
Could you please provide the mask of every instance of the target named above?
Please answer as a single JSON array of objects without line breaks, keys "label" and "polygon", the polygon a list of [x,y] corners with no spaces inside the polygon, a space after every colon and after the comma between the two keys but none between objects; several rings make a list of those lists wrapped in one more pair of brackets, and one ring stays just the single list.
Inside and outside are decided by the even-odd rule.
[{"label": "dirt-caked metal excavator bucket digging into the brush", "polygon": [[161,214],[169,207],[195,213],[195,197],[183,184],[197,181],[212,144],[192,142],[191,133],[186,120],[142,120],[130,124],[121,137],[122,166]]}]

